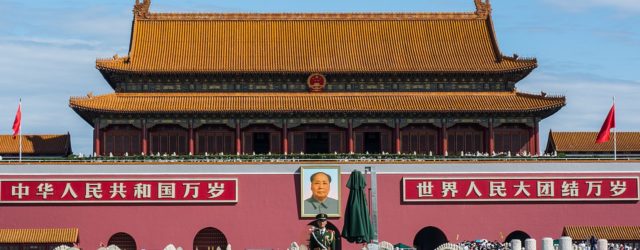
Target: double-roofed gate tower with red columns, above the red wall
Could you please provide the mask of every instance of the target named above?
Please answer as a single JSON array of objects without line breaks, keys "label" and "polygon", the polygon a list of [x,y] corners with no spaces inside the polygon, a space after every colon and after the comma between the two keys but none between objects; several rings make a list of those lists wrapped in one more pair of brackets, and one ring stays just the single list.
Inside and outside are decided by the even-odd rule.
[{"label": "double-roofed gate tower with red columns, above the red wall", "polygon": [[539,154],[559,96],[471,13],[152,13],[96,67],[115,93],[71,98],[94,151],[126,154]]}]

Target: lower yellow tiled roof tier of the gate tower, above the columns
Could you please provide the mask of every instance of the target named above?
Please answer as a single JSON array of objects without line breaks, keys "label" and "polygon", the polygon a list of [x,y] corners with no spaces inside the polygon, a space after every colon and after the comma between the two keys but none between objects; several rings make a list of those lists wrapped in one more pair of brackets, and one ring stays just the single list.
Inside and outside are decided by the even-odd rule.
[{"label": "lower yellow tiled roof tier of the gate tower, above the columns", "polygon": [[531,112],[564,97],[515,92],[113,93],[74,97],[74,109],[108,113]]}]

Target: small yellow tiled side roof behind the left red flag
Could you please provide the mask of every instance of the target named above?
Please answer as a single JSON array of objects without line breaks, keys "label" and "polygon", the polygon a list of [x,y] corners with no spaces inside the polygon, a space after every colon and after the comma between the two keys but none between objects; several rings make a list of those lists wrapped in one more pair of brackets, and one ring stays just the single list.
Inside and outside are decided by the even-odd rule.
[{"label": "small yellow tiled side roof behind the left red flag", "polygon": [[[63,135],[22,135],[22,154],[24,155],[66,155],[70,153],[71,138]],[[18,155],[19,138],[12,135],[0,135],[0,155]]]}]

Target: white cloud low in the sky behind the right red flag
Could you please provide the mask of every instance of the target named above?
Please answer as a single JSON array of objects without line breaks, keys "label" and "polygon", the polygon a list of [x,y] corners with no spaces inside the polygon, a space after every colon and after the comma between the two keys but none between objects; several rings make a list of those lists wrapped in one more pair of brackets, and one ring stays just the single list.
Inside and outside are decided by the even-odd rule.
[{"label": "white cloud low in the sky behind the right red flag", "polygon": [[567,98],[567,105],[540,124],[540,143],[546,146],[547,134],[553,131],[598,131],[616,97],[618,131],[640,129],[640,106],[637,93],[640,82],[606,78],[589,74],[534,73],[518,83],[525,92],[544,91]]}]

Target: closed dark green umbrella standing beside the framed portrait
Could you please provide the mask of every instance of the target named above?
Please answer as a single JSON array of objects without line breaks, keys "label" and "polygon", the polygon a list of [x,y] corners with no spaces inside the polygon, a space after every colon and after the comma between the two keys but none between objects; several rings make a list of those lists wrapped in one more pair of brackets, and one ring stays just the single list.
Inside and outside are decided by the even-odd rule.
[{"label": "closed dark green umbrella standing beside the framed portrait", "polygon": [[369,208],[364,194],[366,186],[367,183],[364,181],[362,173],[353,170],[347,182],[350,191],[342,228],[342,237],[351,243],[366,243],[373,238]]}]

